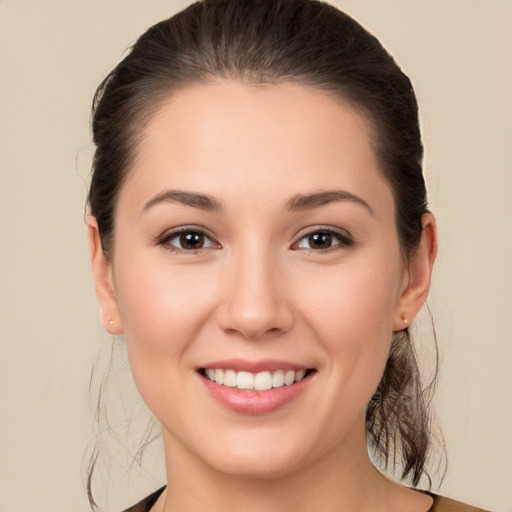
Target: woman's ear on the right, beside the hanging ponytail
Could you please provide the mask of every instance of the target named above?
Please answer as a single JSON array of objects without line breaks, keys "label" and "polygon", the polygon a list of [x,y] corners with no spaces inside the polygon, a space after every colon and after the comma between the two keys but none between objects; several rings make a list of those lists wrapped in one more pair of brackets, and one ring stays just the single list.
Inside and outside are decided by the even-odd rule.
[{"label": "woman's ear on the right, beside the hanging ponytail", "polygon": [[393,319],[393,331],[402,331],[414,320],[427,300],[432,267],[437,254],[436,220],[431,213],[421,219],[422,234],[417,250],[410,255]]}]

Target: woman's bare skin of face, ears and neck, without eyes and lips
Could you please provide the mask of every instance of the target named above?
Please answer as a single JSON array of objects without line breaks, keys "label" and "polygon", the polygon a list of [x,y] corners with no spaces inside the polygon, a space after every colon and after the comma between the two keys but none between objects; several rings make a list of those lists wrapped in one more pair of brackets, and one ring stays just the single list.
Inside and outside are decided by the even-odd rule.
[{"label": "woman's bare skin of face, ears and neck, without eyes and lips", "polygon": [[[169,190],[207,194],[219,209],[155,199]],[[289,208],[325,191],[360,201]],[[182,226],[208,234],[202,249],[180,250],[178,236],[161,243]],[[126,335],[135,382],[162,425],[168,492],[153,510],[430,507],[373,467],[364,424],[392,333],[428,293],[430,214],[423,226],[404,259],[367,123],[322,92],[218,81],[162,105],[121,190],[109,258],[88,221],[103,323]],[[322,228],[342,235],[328,250],[307,236]],[[240,414],[197,372],[228,358],[316,372],[278,410]]]}]

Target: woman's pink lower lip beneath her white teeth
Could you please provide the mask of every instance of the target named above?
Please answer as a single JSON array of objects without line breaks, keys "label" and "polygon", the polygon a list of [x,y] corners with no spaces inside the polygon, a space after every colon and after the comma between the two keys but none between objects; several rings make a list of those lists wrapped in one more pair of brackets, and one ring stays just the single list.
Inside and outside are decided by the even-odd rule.
[{"label": "woman's pink lower lip beneath her white teeth", "polygon": [[297,398],[308,386],[311,375],[290,386],[272,388],[268,391],[245,391],[212,382],[200,375],[206,388],[222,405],[234,412],[260,415],[275,411]]}]

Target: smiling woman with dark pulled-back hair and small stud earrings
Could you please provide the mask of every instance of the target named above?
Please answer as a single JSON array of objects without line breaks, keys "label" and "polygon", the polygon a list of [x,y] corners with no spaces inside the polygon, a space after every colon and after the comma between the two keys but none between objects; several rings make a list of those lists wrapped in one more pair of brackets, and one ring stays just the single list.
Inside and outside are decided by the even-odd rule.
[{"label": "smiling woman with dark pulled-back hair and small stud earrings", "polygon": [[414,490],[437,237],[414,93],[373,36],[311,0],[194,4],[101,84],[93,132],[103,324],[165,447],[131,511],[477,510]]}]

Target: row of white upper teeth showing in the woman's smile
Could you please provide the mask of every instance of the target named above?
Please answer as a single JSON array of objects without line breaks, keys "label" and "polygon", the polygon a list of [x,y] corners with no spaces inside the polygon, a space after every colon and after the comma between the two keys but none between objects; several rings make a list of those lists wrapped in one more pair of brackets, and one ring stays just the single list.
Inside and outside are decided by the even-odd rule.
[{"label": "row of white upper teeth showing in the woman's smile", "polygon": [[300,382],[306,375],[306,370],[276,370],[260,373],[235,372],[235,370],[222,370],[220,368],[207,368],[206,376],[212,382],[223,384],[231,388],[244,390],[267,391],[272,388],[291,386]]}]

